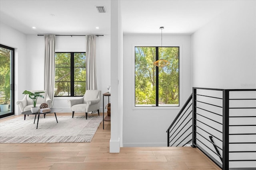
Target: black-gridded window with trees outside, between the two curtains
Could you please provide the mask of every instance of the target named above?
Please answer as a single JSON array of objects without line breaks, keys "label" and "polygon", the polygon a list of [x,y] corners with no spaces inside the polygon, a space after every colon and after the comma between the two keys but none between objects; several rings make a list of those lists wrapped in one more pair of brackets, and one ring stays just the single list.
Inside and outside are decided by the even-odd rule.
[{"label": "black-gridded window with trees outside, between the two curtains", "polygon": [[56,52],[54,96],[84,96],[85,90],[85,52]]}]

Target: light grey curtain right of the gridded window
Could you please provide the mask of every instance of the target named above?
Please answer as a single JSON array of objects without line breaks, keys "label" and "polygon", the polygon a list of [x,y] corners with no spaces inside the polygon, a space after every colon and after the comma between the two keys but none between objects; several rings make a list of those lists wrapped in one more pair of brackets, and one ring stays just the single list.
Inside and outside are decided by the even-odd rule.
[{"label": "light grey curtain right of the gridded window", "polygon": [[86,90],[97,90],[95,35],[86,35]]}]

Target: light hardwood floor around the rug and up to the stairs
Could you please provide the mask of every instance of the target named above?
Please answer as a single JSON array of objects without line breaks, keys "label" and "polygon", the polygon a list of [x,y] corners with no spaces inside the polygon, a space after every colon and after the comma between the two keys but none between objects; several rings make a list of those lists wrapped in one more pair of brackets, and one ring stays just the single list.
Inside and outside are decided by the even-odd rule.
[{"label": "light hardwood floor around the rug and up to the stairs", "polygon": [[91,143],[0,144],[0,170],[220,170],[192,147],[126,147],[109,153],[110,122],[104,124]]}]

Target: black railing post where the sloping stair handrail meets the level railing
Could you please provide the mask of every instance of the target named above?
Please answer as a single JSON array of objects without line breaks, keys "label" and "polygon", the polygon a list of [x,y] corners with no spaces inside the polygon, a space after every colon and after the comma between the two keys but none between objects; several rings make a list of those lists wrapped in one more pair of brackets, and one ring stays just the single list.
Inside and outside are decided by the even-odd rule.
[{"label": "black railing post where the sloping stair handrail meets the level railing", "polygon": [[192,147],[196,148],[196,88],[192,90]]}]

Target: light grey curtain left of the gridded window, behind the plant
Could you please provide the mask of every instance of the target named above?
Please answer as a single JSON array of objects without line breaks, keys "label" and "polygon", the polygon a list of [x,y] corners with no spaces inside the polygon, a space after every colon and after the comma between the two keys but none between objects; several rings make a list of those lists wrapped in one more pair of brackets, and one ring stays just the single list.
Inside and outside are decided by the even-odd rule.
[{"label": "light grey curtain left of the gridded window, behind the plant", "polygon": [[53,103],[55,78],[55,35],[44,35],[44,42],[44,88]]}]

